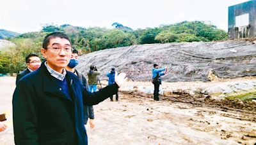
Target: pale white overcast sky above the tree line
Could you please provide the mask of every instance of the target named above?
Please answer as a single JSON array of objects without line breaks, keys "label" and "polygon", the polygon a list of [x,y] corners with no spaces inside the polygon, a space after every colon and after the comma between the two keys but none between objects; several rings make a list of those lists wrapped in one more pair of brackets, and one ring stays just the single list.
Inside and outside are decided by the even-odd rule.
[{"label": "pale white overcast sky above the tree line", "polygon": [[132,29],[202,20],[228,29],[228,6],[248,0],[1,0],[0,29],[40,31],[45,24]]}]

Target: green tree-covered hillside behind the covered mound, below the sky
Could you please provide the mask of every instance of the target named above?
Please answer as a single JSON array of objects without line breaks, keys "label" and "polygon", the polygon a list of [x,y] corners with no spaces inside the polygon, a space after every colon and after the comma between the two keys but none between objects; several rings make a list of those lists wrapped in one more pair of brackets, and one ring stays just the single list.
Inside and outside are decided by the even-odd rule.
[{"label": "green tree-covered hillside behind the covered mound, below the sky", "polygon": [[[184,21],[159,27],[133,30],[118,22],[112,24],[112,29],[102,27],[76,27],[69,24],[45,25],[39,32],[24,34],[10,33],[0,30],[2,38],[15,44],[8,52],[0,51],[0,73],[19,72],[24,69],[24,58],[28,53],[38,53],[42,48],[42,40],[51,32],[65,32],[71,41],[72,47],[79,53],[90,53],[109,48],[143,45],[152,43],[179,43],[193,41],[220,41],[227,39],[227,32],[218,29],[215,25],[202,21]],[[12,52],[12,53],[11,53]]]}]

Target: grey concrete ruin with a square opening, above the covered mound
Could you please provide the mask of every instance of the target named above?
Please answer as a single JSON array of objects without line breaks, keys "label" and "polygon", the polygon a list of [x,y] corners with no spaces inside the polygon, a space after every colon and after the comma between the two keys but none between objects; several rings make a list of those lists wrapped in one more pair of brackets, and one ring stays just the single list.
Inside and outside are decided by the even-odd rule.
[{"label": "grey concrete ruin with a square opening, above the covered mound", "polygon": [[228,7],[228,38],[256,36],[256,0]]}]

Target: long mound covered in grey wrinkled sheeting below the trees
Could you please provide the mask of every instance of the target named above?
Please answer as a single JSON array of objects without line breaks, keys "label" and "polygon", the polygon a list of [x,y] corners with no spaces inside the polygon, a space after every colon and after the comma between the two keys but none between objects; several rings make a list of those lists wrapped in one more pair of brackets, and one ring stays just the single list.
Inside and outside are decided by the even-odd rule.
[{"label": "long mound covered in grey wrinkled sheeting below the trees", "polygon": [[[115,67],[134,81],[149,81],[153,64],[167,66],[164,81],[210,81],[256,75],[256,45],[249,41],[167,43],[100,50],[80,57],[77,69],[87,76],[91,65],[102,76]],[[212,75],[211,75],[212,76]]]}]

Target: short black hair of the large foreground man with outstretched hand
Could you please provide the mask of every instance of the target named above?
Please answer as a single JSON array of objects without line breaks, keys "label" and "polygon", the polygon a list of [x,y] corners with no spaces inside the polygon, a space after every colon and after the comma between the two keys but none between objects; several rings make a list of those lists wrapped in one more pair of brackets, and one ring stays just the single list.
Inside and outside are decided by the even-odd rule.
[{"label": "short black hair of the large foreground man with outstretched hand", "polygon": [[51,34],[48,34],[47,36],[45,36],[42,47],[47,49],[47,46],[49,45],[50,40],[52,38],[67,39],[70,42],[70,45],[72,46],[70,38],[66,34],[64,34],[63,32],[52,32]]}]

